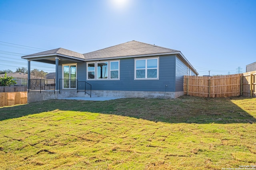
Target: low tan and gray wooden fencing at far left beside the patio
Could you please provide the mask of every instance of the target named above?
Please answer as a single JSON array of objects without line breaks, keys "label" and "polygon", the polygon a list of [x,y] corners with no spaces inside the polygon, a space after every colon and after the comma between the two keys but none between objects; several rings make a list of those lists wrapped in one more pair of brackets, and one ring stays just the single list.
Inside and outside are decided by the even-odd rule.
[{"label": "low tan and gray wooden fencing at far left beside the patio", "polygon": [[26,87],[0,87],[0,107],[26,104],[28,101]]}]

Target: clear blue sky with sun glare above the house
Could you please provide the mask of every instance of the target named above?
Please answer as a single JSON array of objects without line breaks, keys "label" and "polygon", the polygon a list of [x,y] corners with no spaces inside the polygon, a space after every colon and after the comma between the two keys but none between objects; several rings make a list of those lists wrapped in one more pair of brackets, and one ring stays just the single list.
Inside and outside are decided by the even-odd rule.
[{"label": "clear blue sky with sun glare above the house", "polygon": [[256,0],[1,0],[0,70],[27,67],[20,57],[40,51],[136,40],[181,51],[200,76],[245,72],[256,62],[255,8]]}]

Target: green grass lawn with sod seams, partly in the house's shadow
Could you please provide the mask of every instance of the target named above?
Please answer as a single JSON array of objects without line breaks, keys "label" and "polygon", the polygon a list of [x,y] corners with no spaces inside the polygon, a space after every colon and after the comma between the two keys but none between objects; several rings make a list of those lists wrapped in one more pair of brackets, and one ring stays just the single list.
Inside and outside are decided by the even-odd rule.
[{"label": "green grass lawn with sod seams, partly in the house's shadow", "polygon": [[8,170],[253,166],[256,98],[48,100],[0,107],[0,160],[0,169]]}]

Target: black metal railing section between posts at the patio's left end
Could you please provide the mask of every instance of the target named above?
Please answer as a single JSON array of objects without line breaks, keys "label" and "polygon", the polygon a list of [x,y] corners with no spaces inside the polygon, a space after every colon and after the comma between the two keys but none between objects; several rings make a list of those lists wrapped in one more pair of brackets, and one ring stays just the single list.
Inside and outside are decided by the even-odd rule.
[{"label": "black metal railing section between posts at the patio's left end", "polygon": [[28,80],[29,90],[54,90],[55,93],[55,79],[30,79]]}]

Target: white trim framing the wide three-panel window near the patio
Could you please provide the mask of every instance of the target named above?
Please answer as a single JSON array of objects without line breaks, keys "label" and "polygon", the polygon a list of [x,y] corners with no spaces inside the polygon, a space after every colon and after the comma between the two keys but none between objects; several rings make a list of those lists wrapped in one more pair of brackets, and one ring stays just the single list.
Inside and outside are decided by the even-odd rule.
[{"label": "white trim framing the wide three-panel window near the patio", "polygon": [[[110,78],[110,63],[118,61],[118,78]],[[88,64],[94,63],[94,79],[88,79]],[[98,63],[108,63],[108,78],[98,78]],[[114,71],[114,70],[111,70]],[[111,60],[111,61],[95,61],[86,63],[86,80],[120,80],[120,60]]]}]

